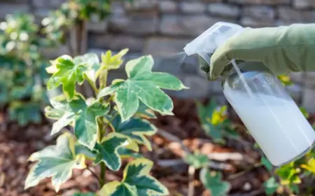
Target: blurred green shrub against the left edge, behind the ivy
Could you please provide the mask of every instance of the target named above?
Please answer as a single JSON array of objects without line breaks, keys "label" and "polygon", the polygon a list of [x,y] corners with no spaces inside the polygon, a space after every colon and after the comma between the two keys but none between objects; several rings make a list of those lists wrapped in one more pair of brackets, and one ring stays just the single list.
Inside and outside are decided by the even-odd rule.
[{"label": "blurred green shrub against the left edge, behind the ivy", "polygon": [[39,123],[46,99],[43,84],[48,76],[39,52],[45,39],[27,14],[7,15],[0,29],[0,108],[8,106],[10,120],[20,125]]}]

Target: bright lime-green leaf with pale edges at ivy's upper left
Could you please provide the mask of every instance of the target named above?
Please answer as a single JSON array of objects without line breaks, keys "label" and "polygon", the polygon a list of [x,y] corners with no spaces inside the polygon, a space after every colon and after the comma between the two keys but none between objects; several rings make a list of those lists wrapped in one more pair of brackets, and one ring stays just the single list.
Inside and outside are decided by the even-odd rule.
[{"label": "bright lime-green leaf with pale edges at ivy's upper left", "polygon": [[58,57],[53,64],[48,67],[48,73],[53,73],[47,83],[48,90],[52,90],[59,85],[68,100],[73,99],[76,94],[76,83],[81,85],[84,81],[83,73],[87,71],[89,66],[85,63],[77,64],[68,55]]}]

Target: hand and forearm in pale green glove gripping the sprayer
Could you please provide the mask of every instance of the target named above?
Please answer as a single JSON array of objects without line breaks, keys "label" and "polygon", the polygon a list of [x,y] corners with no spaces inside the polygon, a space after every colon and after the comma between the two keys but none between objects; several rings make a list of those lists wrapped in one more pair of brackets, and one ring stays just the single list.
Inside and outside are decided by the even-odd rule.
[{"label": "hand and forearm in pale green glove gripping the sprayer", "polygon": [[226,76],[230,62],[245,62],[246,69],[266,70],[275,75],[293,71],[315,71],[315,24],[286,27],[245,28],[230,38],[203,67],[210,79]]}]

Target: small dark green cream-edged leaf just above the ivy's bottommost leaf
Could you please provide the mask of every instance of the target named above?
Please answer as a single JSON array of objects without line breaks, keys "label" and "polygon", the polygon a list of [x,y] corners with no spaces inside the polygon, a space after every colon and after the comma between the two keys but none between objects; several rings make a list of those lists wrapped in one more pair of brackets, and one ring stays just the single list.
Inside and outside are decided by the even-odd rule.
[{"label": "small dark green cream-edged leaf just above the ivy's bottommost leaf", "polygon": [[118,171],[121,167],[121,159],[118,154],[118,148],[127,146],[129,144],[128,138],[118,133],[111,133],[108,137],[102,140],[101,144],[96,144],[95,150],[96,159],[95,164],[105,162],[106,166],[113,171]]}]

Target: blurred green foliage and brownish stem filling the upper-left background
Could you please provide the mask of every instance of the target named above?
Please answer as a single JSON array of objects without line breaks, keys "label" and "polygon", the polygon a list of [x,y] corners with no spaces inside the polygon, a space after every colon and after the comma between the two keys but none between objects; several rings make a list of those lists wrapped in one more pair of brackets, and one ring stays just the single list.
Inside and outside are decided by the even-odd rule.
[{"label": "blurred green foliage and brownish stem filling the upper-left background", "polygon": [[109,0],[71,0],[53,10],[41,25],[34,15],[13,13],[0,24],[0,109],[24,126],[41,123],[48,102],[45,48],[69,44],[71,55],[86,50],[86,22],[103,20],[111,13]]}]

